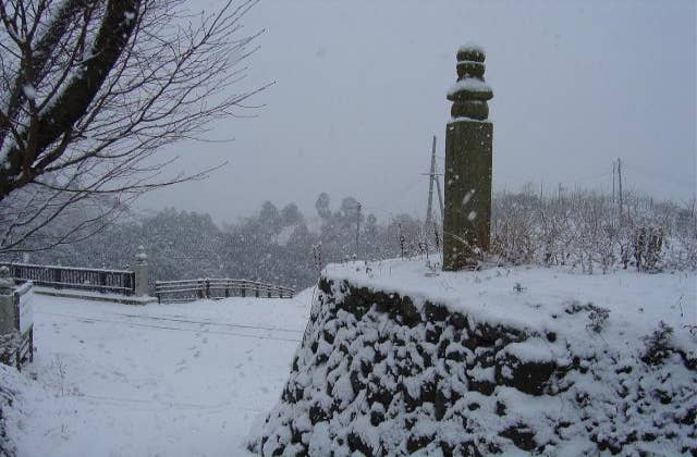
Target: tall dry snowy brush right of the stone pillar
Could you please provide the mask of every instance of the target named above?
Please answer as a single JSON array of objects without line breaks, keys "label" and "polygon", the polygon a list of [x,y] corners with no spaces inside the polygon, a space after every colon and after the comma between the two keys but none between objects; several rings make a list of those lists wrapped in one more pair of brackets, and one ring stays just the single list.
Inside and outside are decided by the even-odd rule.
[{"label": "tall dry snowy brush right of the stone pillar", "polygon": [[694,209],[632,194],[623,207],[620,220],[616,202],[594,192],[498,195],[491,251],[513,264],[571,265],[588,274],[631,264],[649,273],[697,269]]}]

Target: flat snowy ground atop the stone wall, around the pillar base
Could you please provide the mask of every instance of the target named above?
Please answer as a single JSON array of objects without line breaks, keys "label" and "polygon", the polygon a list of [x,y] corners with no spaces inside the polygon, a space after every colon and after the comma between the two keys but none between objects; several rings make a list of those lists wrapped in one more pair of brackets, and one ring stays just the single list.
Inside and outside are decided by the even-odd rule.
[{"label": "flat snowy ground atop the stone wall, around the pillar base", "polygon": [[657,274],[635,269],[609,274],[583,274],[568,268],[488,267],[476,272],[433,271],[420,260],[386,260],[331,264],[323,272],[386,293],[409,296],[420,308],[433,300],[463,310],[475,321],[512,325],[541,334],[557,332],[577,342],[597,337],[586,326],[570,328],[564,310],[591,304],[609,311],[602,339],[610,346],[638,342],[660,321],[674,329],[674,344],[695,350],[697,274],[675,271]]}]

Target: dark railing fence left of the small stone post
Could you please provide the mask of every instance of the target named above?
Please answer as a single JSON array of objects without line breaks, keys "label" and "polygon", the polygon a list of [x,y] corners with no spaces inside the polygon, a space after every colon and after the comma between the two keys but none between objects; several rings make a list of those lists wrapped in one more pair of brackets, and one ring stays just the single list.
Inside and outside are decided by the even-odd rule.
[{"label": "dark railing fence left of the small stone post", "polygon": [[32,281],[36,286],[110,292],[121,295],[135,294],[135,273],[133,271],[30,263],[2,263],[2,265],[8,267],[10,276],[17,282]]}]

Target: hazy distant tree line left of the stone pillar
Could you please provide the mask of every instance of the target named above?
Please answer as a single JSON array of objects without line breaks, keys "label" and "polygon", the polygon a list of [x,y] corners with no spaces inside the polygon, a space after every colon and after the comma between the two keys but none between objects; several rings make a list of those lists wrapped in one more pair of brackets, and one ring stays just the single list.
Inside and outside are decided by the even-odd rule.
[{"label": "hazy distant tree line left of the stone pillar", "polygon": [[[235,277],[304,288],[329,262],[396,257],[400,234],[416,239],[421,230],[421,221],[408,214],[386,223],[375,214],[364,215],[353,197],[332,208],[329,195],[322,193],[315,207],[319,227],[313,230],[295,203],[279,209],[266,201],[256,214],[222,226],[209,214],[168,208],[151,217],[122,220],[81,243],[32,252],[28,260],[127,268],[142,245],[154,280]],[[23,256],[5,259],[21,261]]]}]

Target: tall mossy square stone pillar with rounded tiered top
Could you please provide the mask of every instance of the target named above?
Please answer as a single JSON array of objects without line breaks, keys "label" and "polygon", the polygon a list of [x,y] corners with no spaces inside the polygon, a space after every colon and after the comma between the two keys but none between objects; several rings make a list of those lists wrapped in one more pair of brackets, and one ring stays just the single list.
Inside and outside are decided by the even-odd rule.
[{"label": "tall mossy square stone pillar with rounded tiered top", "polygon": [[453,102],[445,129],[445,202],[443,270],[475,268],[489,249],[491,228],[491,159],[493,125],[484,81],[485,53],[477,46],[457,50],[457,83],[448,91]]}]

